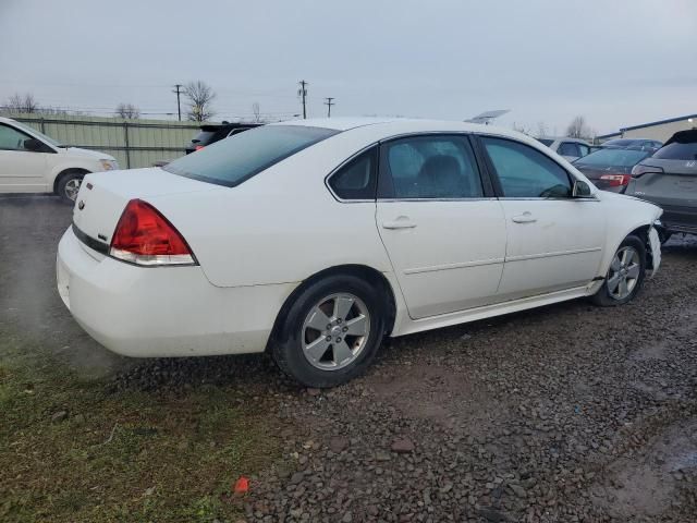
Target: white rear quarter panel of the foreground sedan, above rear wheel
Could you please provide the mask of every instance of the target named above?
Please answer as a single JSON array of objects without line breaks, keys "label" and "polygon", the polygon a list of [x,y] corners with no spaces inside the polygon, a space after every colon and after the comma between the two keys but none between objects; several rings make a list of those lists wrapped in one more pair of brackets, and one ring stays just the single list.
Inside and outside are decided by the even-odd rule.
[{"label": "white rear quarter panel of the foreground sedan, above rear wheel", "polygon": [[184,235],[218,287],[303,281],[338,265],[391,271],[375,203],[340,203],[325,178],[371,142],[333,136],[236,187],[147,198]]}]

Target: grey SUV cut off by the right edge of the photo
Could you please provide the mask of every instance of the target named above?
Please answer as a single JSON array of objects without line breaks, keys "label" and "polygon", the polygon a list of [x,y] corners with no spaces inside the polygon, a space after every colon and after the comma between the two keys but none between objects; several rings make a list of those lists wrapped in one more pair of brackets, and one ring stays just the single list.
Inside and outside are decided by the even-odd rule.
[{"label": "grey SUV cut off by the right edge of the photo", "polygon": [[697,234],[697,130],[680,131],[632,170],[626,194],[664,210],[663,240]]}]

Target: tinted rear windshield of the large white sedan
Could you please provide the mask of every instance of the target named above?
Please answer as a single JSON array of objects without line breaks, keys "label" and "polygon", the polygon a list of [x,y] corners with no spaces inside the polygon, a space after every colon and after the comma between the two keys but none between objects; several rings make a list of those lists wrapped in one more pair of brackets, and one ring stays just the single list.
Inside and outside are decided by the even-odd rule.
[{"label": "tinted rear windshield of the large white sedan", "polygon": [[301,125],[265,125],[168,163],[174,174],[218,185],[235,186],[338,131]]}]

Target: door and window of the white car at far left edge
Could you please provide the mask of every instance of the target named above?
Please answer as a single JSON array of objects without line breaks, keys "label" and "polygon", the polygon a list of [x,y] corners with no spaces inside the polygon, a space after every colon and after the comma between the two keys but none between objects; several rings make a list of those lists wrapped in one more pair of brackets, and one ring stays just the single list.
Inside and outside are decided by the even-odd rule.
[{"label": "door and window of the white car at far left edge", "polygon": [[0,191],[5,193],[42,192],[46,186],[46,154],[25,148],[33,137],[0,123]]}]

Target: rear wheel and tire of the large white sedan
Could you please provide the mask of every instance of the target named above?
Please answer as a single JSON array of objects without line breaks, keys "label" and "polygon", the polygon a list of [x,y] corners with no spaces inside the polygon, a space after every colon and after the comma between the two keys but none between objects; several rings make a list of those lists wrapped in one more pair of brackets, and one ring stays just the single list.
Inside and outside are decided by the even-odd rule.
[{"label": "rear wheel and tire of the large white sedan", "polygon": [[370,365],[386,323],[381,285],[355,276],[311,283],[280,318],[272,354],[285,374],[306,387],[335,387]]}]

